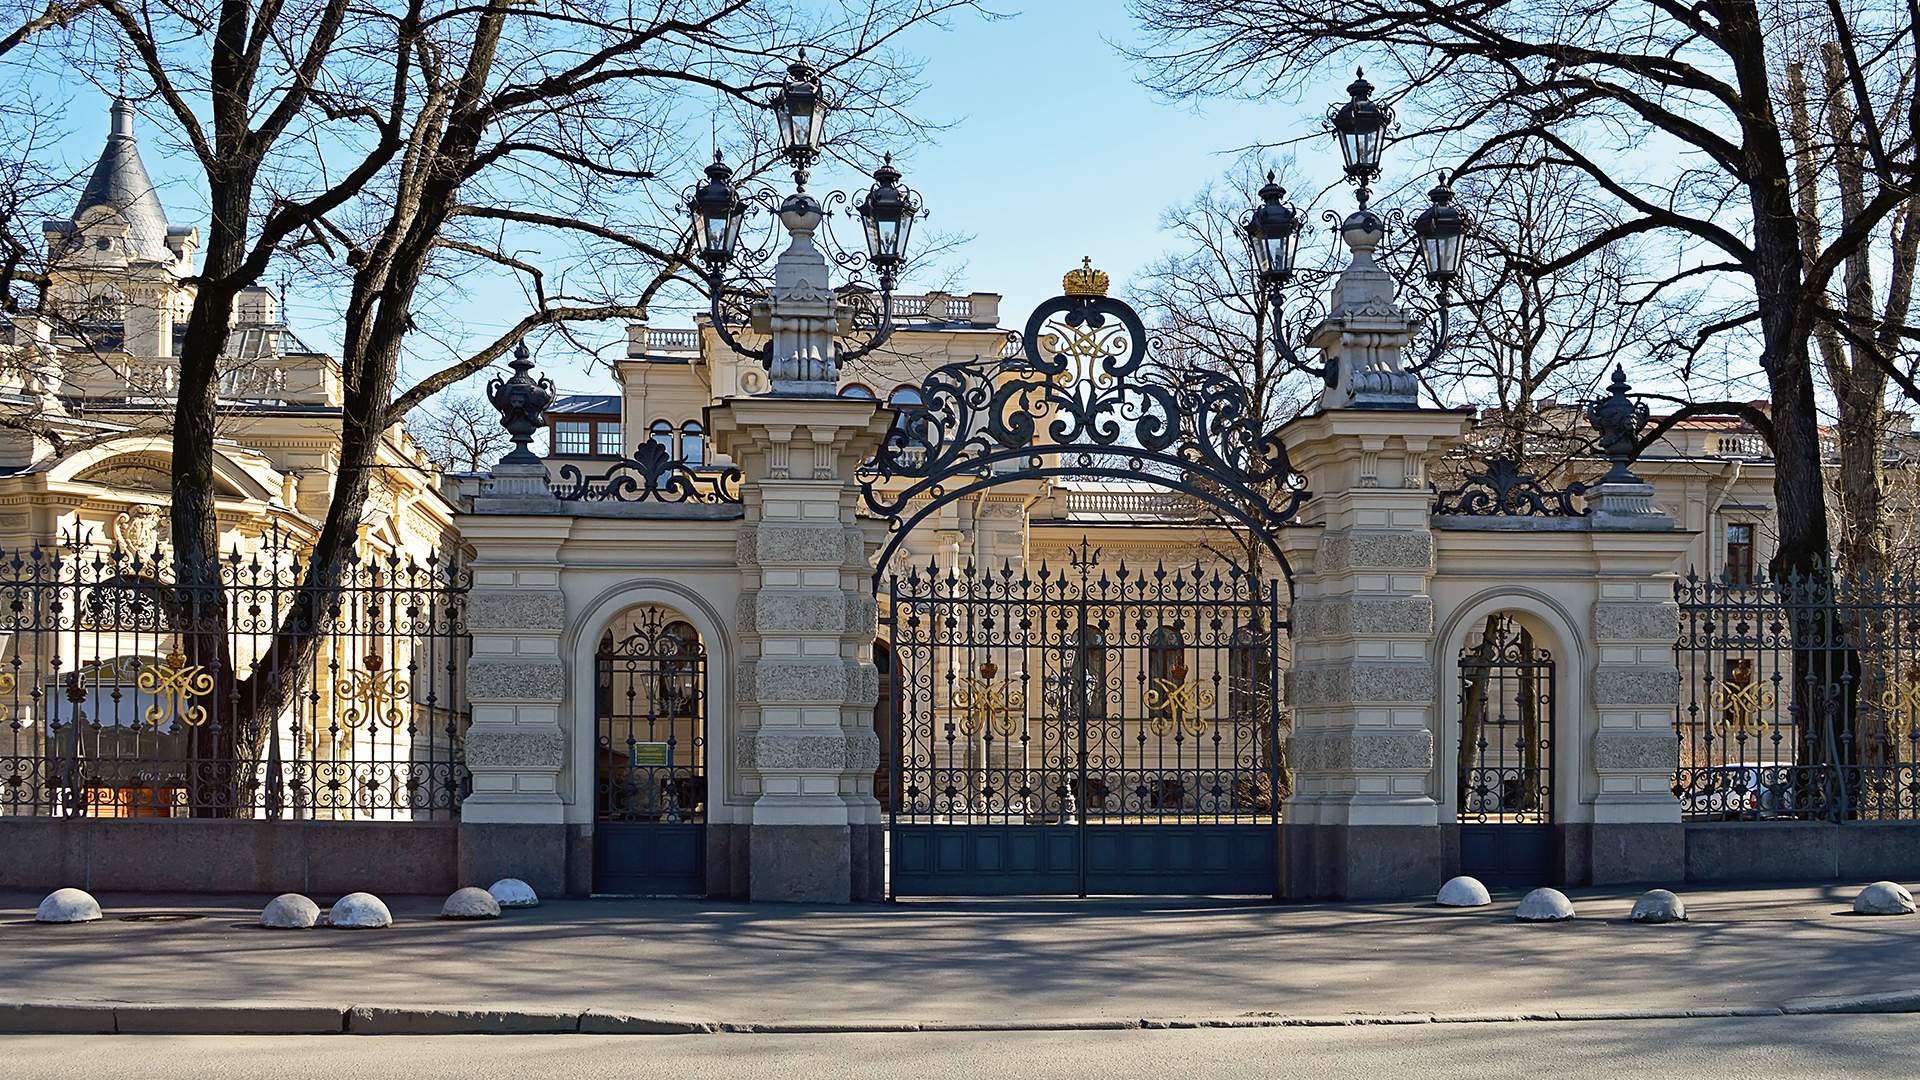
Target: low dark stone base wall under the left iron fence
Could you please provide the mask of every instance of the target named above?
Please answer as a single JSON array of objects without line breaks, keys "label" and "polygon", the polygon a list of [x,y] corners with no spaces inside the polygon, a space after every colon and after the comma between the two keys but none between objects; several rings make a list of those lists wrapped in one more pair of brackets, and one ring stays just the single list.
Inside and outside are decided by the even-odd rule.
[{"label": "low dark stone base wall under the left iron fence", "polygon": [[0,888],[449,894],[468,884],[459,880],[459,847],[453,821],[0,817]]}]

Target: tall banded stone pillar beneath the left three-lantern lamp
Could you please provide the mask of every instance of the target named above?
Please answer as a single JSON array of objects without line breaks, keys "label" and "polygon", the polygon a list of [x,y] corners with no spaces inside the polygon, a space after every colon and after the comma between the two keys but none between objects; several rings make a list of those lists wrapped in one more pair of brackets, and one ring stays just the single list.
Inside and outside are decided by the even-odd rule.
[{"label": "tall banded stone pillar beneath the left three-lantern lamp", "polygon": [[854,469],[889,419],[868,400],[778,394],[708,411],[716,448],[743,473],[737,726],[728,738],[755,796],[753,899],[885,896],[877,619]]}]

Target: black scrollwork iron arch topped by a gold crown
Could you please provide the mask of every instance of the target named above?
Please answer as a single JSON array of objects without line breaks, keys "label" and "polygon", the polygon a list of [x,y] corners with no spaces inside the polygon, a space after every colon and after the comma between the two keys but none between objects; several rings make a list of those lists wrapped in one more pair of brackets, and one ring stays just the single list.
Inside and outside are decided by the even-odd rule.
[{"label": "black scrollwork iron arch topped by a gold crown", "polygon": [[[860,465],[862,500],[891,527],[876,578],[939,507],[1018,480],[1079,477],[1202,500],[1258,536],[1292,580],[1279,530],[1309,492],[1286,446],[1260,429],[1225,373],[1160,363],[1140,315],[1102,294],[1104,277],[1069,273],[1069,292],[1027,317],[1018,352],[937,367],[922,404],[899,409]],[[889,492],[889,480],[908,484]]]}]

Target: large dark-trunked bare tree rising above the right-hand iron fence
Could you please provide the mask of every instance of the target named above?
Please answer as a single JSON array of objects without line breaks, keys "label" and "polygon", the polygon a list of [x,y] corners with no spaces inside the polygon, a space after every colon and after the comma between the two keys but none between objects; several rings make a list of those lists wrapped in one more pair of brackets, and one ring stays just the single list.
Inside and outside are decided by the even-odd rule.
[{"label": "large dark-trunked bare tree rising above the right-hand iron fence", "polygon": [[[1578,169],[1617,221],[1532,269],[1549,275],[1619,240],[1665,240],[1670,269],[1642,298],[1709,286],[1726,298],[1684,342],[1757,354],[1772,396],[1776,569],[1818,573],[1828,555],[1820,417],[1809,340],[1830,332],[1920,398],[1910,359],[1882,346],[1920,331],[1862,323],[1830,302],[1836,277],[1895,229],[1914,196],[1920,110],[1912,4],[1759,6],[1670,0],[1565,6],[1548,0],[1135,0],[1150,40],[1148,83],[1173,96],[1298,90],[1350,60],[1388,60],[1413,138],[1457,154],[1465,173],[1532,167],[1503,148],[1536,144],[1540,163]],[[1814,236],[1795,206],[1789,79],[1780,40],[1820,40],[1834,102],[1845,102],[1841,158],[1859,163],[1859,202]],[[1832,129],[1830,129],[1832,133]],[[1841,215],[1836,215],[1841,217]]]}]

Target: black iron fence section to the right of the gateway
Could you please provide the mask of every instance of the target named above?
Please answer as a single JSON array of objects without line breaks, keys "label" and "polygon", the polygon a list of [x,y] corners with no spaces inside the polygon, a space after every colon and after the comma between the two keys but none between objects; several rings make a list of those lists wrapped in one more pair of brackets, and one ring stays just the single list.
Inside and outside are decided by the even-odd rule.
[{"label": "black iron fence section to the right of the gateway", "polygon": [[1690,575],[1676,600],[1688,819],[1920,819],[1920,580]]}]

